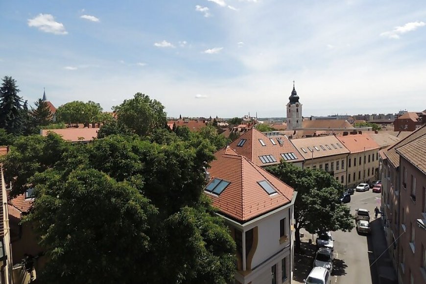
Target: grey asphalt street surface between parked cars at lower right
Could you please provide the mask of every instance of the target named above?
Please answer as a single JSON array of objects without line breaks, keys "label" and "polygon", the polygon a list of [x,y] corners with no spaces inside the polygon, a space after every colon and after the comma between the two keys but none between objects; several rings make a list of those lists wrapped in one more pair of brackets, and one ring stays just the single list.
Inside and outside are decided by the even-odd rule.
[{"label": "grey asphalt street surface between parked cars at lower right", "polygon": [[[351,202],[347,203],[351,213],[355,215],[355,209],[363,208],[370,211],[372,235],[359,235],[356,229],[352,232],[333,232],[334,239],[334,271],[331,283],[362,283],[379,284],[376,263],[373,263],[383,252],[380,234],[382,230],[379,218],[375,221],[374,209],[380,208],[380,194],[373,193],[370,189],[365,192],[355,192],[351,196]],[[379,214],[380,217],[380,214]],[[377,235],[377,237],[375,236]]]}]

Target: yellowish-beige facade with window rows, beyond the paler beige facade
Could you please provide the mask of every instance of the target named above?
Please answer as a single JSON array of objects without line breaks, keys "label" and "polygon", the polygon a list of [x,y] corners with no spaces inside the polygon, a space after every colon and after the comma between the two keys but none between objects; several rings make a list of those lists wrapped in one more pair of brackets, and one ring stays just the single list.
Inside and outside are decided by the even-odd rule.
[{"label": "yellowish-beige facade with window rows, beyond the paler beige facade", "polygon": [[348,156],[348,187],[379,179],[379,149],[350,153]]}]

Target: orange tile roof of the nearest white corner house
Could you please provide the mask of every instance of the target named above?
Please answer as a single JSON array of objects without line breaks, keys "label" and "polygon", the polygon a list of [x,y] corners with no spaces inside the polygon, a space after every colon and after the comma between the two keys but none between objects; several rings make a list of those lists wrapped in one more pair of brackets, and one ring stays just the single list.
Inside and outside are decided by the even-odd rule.
[{"label": "orange tile roof of the nearest white corner house", "polygon": [[[238,221],[248,221],[291,202],[294,189],[265,171],[229,146],[214,153],[210,178],[230,182],[219,195],[205,193],[221,213]],[[269,195],[259,184],[267,181],[276,193]]]}]

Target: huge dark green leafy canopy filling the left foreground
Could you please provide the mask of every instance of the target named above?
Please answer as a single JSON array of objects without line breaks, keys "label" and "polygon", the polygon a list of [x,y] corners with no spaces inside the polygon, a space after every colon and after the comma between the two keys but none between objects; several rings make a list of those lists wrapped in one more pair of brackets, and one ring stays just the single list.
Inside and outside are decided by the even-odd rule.
[{"label": "huge dark green leafy canopy filling the left foreground", "polygon": [[15,195],[35,189],[25,221],[50,259],[44,283],[231,281],[235,242],[203,194],[213,150],[165,129],[88,144],[19,138],[5,178]]}]

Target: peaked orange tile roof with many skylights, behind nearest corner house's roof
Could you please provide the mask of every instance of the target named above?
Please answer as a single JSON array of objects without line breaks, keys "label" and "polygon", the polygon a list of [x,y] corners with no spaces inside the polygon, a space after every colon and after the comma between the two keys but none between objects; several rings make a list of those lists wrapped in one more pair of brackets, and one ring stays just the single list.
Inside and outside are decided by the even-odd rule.
[{"label": "peaked orange tile roof with many skylights, behind nearest corner house's roof", "polygon": [[[242,146],[238,146],[238,143],[245,139],[246,141]],[[282,144],[278,141],[281,140]],[[263,146],[260,140],[265,144]],[[275,145],[273,142],[275,142]],[[288,162],[300,162],[303,161],[302,155],[297,149],[290,143],[286,136],[274,136],[271,138],[266,137],[256,128],[250,128],[236,140],[234,140],[229,146],[234,149],[239,155],[242,155],[255,163],[257,166],[270,166],[279,164],[283,157],[281,154],[293,153],[297,159],[288,160]],[[262,163],[260,156],[272,155],[276,162],[273,163]],[[285,157],[285,156],[284,156]]]}]

